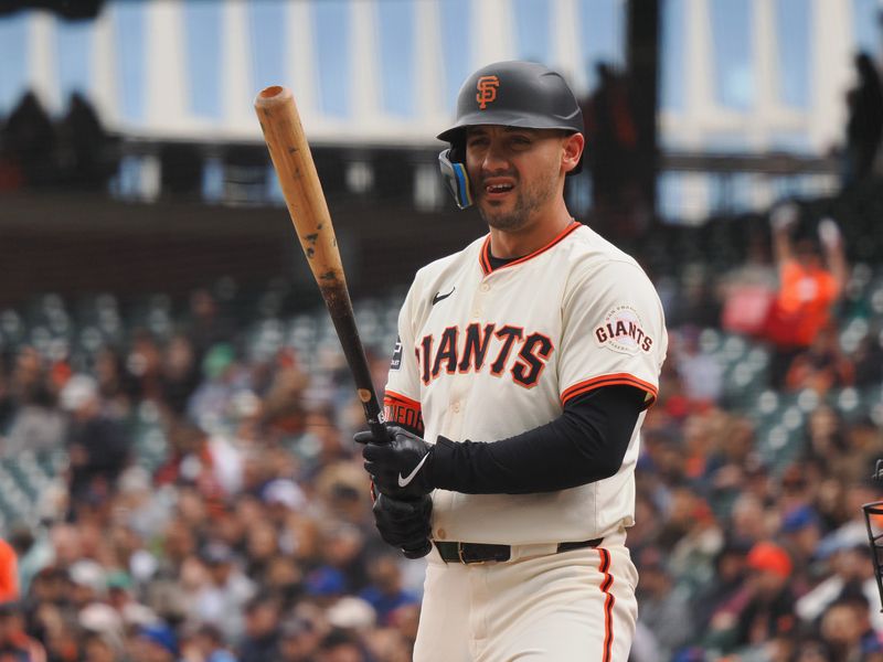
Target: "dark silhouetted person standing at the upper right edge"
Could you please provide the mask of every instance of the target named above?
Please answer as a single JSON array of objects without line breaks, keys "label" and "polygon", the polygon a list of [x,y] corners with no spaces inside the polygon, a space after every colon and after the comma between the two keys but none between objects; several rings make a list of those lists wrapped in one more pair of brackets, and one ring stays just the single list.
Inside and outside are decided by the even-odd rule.
[{"label": "dark silhouetted person standing at the upper right edge", "polygon": [[855,56],[858,84],[847,94],[847,149],[843,188],[862,181],[874,164],[883,138],[883,85],[874,61],[868,53]]}]

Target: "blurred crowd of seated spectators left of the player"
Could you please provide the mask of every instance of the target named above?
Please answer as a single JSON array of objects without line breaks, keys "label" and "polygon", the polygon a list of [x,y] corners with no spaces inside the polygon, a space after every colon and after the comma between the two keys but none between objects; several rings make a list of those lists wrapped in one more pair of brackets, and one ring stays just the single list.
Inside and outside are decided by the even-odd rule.
[{"label": "blurred crowd of seated spectators left of the player", "polygon": [[[345,371],[245,360],[211,295],[191,310],[79,373],[4,354],[2,456],[67,461],[35,521],[3,527],[0,659],[409,660],[422,565],[373,531]],[[166,439],[152,462],[145,418]]]}]

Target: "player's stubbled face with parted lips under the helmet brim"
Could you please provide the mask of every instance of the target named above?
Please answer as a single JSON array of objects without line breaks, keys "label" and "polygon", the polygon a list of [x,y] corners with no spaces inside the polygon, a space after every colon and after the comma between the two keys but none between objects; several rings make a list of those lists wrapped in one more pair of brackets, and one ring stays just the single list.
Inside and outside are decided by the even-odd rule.
[{"label": "player's stubbled face with parted lips under the helmet brim", "polygon": [[518,231],[553,207],[564,186],[562,163],[570,140],[557,130],[468,129],[466,167],[478,211],[489,226]]}]

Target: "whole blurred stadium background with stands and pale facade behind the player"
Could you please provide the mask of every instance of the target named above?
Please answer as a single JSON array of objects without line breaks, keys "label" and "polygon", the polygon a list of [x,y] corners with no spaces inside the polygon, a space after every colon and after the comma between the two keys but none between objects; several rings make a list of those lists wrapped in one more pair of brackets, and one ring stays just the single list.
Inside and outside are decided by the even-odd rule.
[{"label": "whole blurred stadium background with stands and pale facade behind the player", "polygon": [[[594,156],[568,203],[638,257],[672,334],[630,538],[635,660],[879,659],[859,506],[881,492],[883,193],[852,148],[876,147],[883,107],[850,90],[858,51],[879,71],[880,12],[0,3],[0,532],[20,576],[0,650],[408,659],[421,565],[371,528],[360,410],[251,103],[295,92],[380,387],[414,270],[482,232],[433,136],[468,73],[518,57],[584,99]],[[832,331],[788,352],[754,319],[786,200],[797,237],[838,223],[850,267]]]}]

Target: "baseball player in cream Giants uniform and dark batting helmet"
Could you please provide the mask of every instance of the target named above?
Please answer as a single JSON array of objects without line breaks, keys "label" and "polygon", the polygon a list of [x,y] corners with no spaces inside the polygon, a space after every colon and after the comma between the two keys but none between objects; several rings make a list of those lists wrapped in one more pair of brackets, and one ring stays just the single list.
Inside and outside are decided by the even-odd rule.
[{"label": "baseball player in cream Giants uniform and dark batting helmet", "polygon": [[584,136],[558,74],[479,70],[438,138],[457,203],[489,233],[417,273],[385,391],[390,438],[357,435],[381,535],[405,551],[432,541],[414,660],[625,661],[638,433],[667,346],[659,298],[567,212]]}]

